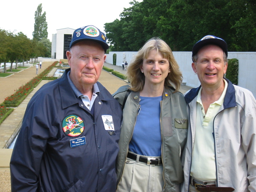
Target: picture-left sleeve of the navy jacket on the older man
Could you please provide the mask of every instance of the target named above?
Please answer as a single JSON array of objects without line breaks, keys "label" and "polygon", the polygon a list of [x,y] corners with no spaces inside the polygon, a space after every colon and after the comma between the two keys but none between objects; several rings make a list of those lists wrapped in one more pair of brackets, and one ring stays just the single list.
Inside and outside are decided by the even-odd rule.
[{"label": "picture-left sleeve of the navy jacket on the older man", "polygon": [[[48,138],[47,114],[36,102],[26,109],[10,160],[12,191],[38,190],[40,166]],[[37,102],[37,104],[40,102]]]}]

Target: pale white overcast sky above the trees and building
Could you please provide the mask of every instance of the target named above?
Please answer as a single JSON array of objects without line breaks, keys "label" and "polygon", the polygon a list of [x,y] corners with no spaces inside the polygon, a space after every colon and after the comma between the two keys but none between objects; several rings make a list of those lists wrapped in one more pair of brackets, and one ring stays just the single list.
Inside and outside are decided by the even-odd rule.
[{"label": "pale white overcast sky above the trees and building", "polygon": [[[48,39],[57,29],[77,29],[94,25],[104,30],[104,24],[120,19],[120,13],[131,5],[132,0],[4,0],[0,9],[0,29],[22,32],[32,39],[34,17],[42,3],[42,14],[46,12]],[[142,2],[142,0],[137,0]]]}]

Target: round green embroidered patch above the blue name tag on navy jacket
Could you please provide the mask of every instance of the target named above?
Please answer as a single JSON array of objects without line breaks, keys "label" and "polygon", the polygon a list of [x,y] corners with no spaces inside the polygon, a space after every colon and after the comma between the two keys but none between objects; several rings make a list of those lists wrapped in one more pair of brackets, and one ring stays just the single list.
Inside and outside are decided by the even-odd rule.
[{"label": "round green embroidered patch above the blue name tag on navy jacket", "polygon": [[79,136],[84,131],[84,122],[76,115],[66,116],[62,121],[62,130],[68,136]]}]

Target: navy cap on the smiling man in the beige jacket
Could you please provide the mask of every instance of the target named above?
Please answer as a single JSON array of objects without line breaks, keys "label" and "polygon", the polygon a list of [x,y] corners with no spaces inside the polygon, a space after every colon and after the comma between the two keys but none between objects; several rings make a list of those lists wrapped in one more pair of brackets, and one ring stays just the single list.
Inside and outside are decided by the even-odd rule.
[{"label": "navy cap on the smiling man in the beige jacket", "polygon": [[214,44],[222,48],[226,56],[228,57],[228,45],[227,43],[222,39],[218,38],[213,35],[207,35],[200,39],[196,44],[194,44],[192,49],[192,57],[197,54],[197,52],[203,47],[208,44]]}]

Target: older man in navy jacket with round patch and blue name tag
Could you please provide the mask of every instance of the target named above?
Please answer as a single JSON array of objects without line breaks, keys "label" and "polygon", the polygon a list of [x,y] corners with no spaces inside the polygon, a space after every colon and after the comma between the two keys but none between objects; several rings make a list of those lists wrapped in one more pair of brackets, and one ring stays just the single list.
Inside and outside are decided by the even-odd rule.
[{"label": "older man in navy jacket with round patch and blue name tag", "polygon": [[12,191],[116,190],[122,110],[97,82],[106,39],[95,26],[75,30],[70,68],[30,100],[10,162]]}]

